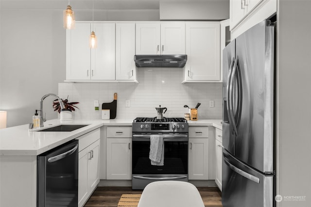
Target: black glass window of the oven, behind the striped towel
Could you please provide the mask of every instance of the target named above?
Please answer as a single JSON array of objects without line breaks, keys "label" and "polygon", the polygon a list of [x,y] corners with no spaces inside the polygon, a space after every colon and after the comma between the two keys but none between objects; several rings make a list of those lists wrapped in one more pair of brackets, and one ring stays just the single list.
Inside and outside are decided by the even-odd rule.
[{"label": "black glass window of the oven, behind the striped towel", "polygon": [[188,174],[188,141],[164,142],[164,166],[151,165],[150,141],[133,141],[132,174]]}]

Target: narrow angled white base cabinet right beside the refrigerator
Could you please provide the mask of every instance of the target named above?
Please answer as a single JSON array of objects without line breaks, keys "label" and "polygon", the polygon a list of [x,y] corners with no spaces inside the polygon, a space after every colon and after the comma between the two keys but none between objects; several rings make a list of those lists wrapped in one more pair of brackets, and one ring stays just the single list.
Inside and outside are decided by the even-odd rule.
[{"label": "narrow angled white base cabinet right beside the refrigerator", "polygon": [[223,163],[223,134],[222,130],[216,128],[216,179],[215,182],[218,188],[222,191],[222,163]]}]

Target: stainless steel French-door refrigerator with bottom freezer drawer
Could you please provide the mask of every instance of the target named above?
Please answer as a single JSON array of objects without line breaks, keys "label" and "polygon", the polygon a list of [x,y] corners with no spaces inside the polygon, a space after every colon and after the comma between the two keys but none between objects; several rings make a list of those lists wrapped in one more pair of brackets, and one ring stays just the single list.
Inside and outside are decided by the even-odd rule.
[{"label": "stainless steel French-door refrigerator with bottom freezer drawer", "polygon": [[274,59],[270,20],[223,50],[224,207],[275,206]]}]

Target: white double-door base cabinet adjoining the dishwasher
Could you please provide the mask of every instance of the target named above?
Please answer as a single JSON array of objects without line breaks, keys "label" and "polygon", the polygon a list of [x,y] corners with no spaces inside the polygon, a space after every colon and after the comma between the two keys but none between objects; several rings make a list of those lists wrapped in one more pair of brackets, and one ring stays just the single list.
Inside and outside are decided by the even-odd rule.
[{"label": "white double-door base cabinet adjoining the dishwasher", "polygon": [[83,207],[99,183],[100,129],[95,129],[79,140],[78,206]]}]

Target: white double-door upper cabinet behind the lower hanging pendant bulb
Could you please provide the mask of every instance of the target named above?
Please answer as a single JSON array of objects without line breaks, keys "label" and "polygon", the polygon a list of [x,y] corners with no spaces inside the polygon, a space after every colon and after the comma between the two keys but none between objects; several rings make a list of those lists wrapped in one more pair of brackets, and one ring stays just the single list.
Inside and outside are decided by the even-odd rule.
[{"label": "white double-door upper cabinet behind the lower hanging pendant bulb", "polygon": [[[115,80],[115,23],[77,22],[66,31],[66,80]],[[94,31],[97,48],[89,48]]]}]

